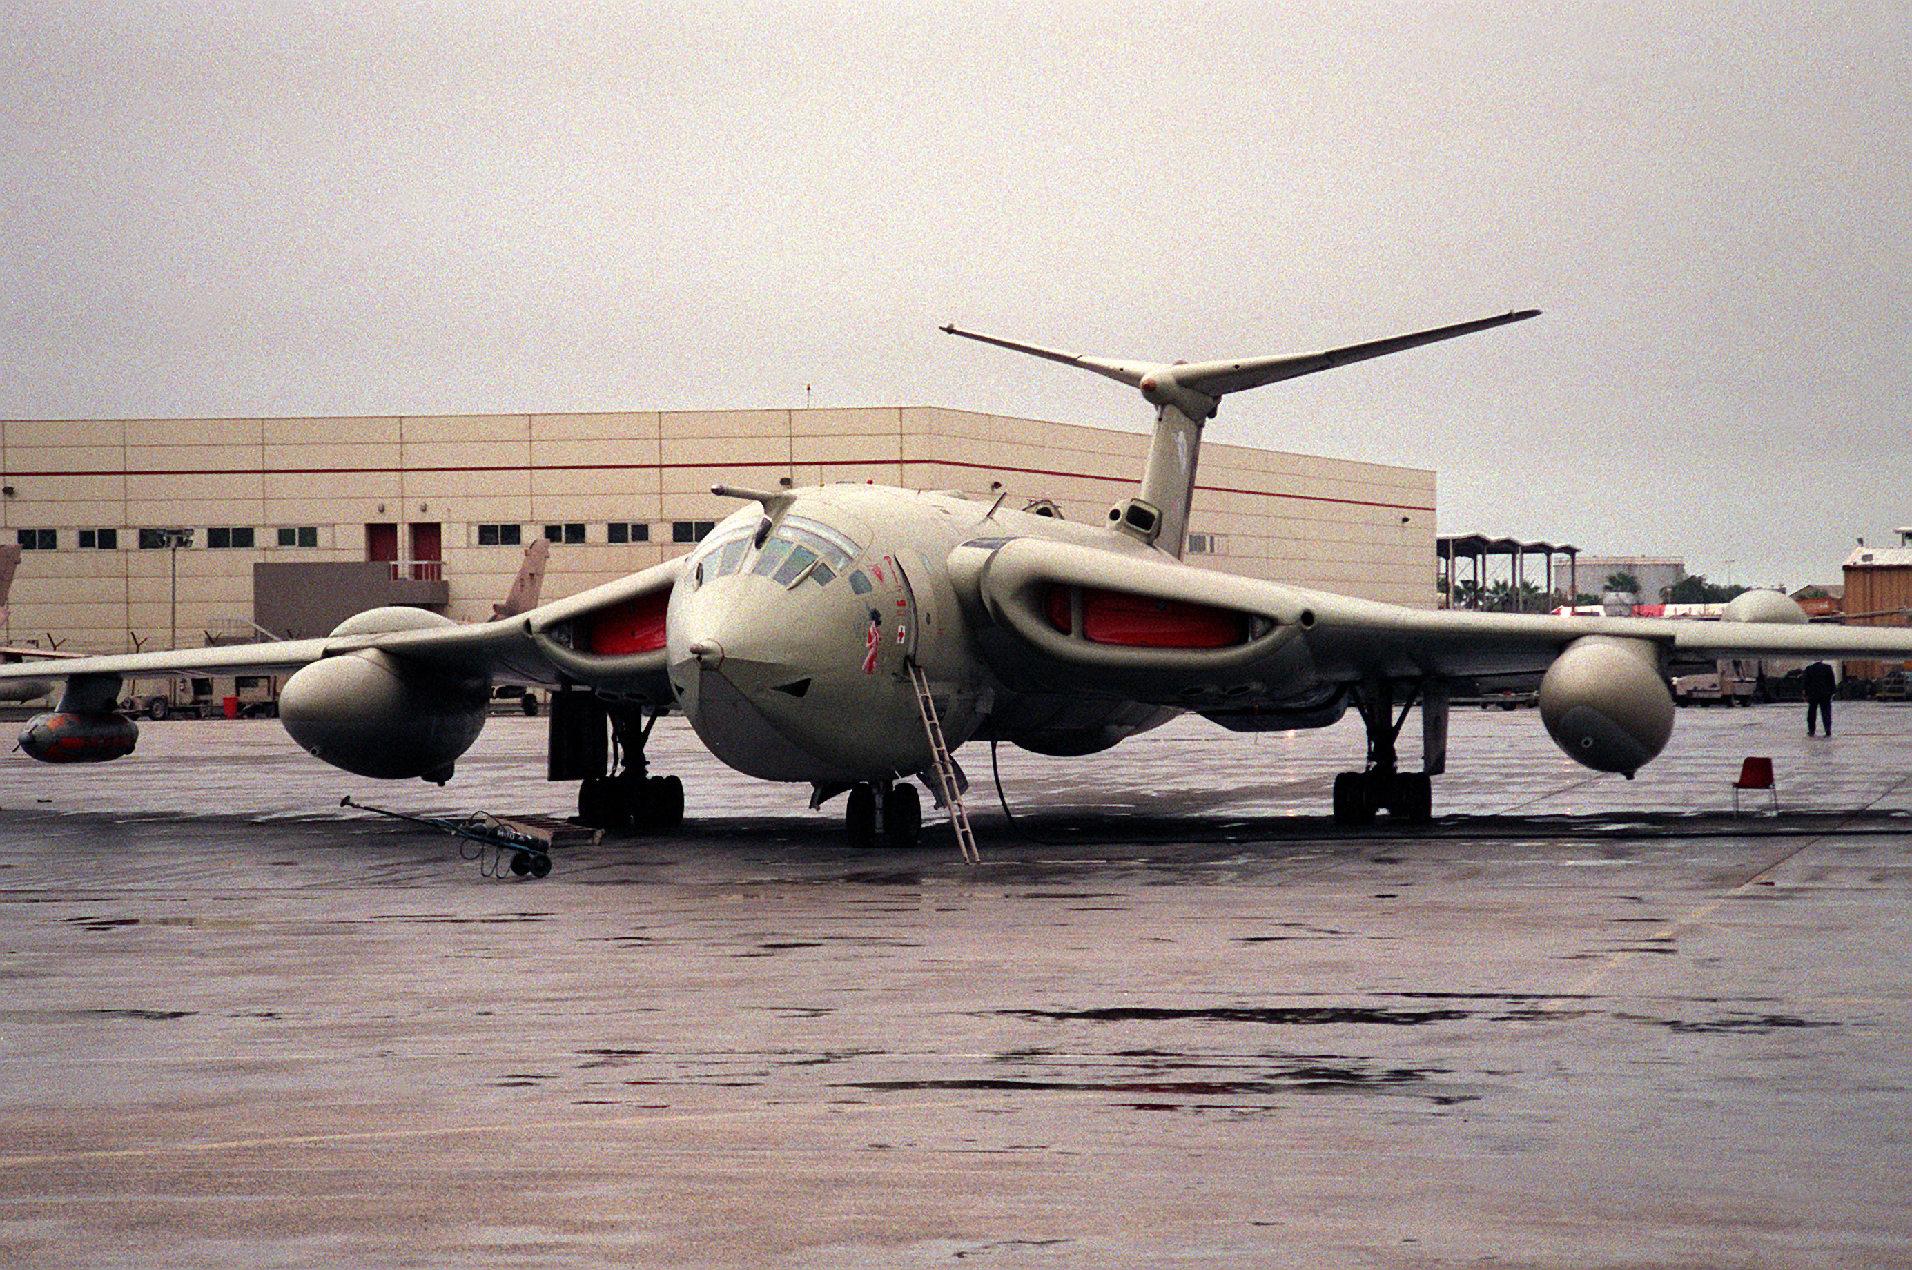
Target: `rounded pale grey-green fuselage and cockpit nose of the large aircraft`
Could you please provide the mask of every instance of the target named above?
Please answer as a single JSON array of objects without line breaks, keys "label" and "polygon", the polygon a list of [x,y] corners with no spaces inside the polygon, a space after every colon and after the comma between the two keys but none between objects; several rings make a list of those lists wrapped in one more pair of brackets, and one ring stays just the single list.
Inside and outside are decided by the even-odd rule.
[{"label": "rounded pale grey-green fuselage and cockpit nose of the large aircraft", "polygon": [[751,503],[688,557],[667,610],[677,702],[709,750],[767,780],[866,782],[923,771],[908,675],[922,668],[950,746],[996,736],[1088,754],[1174,717],[1119,698],[1004,683],[956,568],[1008,537],[1159,553],[1111,530],[958,493],[822,486]]}]

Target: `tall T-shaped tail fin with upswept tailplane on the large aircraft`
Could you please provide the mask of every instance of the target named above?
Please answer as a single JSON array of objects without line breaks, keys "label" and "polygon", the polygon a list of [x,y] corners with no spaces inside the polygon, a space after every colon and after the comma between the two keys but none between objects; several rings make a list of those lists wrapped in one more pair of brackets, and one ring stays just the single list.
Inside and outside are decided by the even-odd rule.
[{"label": "tall T-shaped tail fin with upswept tailplane on the large aircraft", "polygon": [[1019,344],[994,335],[964,331],[956,325],[945,325],[943,333],[1011,352],[1027,352],[1032,358],[1048,361],[1061,361],[1063,365],[1094,371],[1105,379],[1138,388],[1143,400],[1157,407],[1155,436],[1149,442],[1149,463],[1141,471],[1140,497],[1111,507],[1109,522],[1145,543],[1161,543],[1162,551],[1180,558],[1187,543],[1189,501],[1195,495],[1201,428],[1214,419],[1214,411],[1224,396],[1537,316],[1537,308],[1528,308],[1451,327],[1434,327],[1409,335],[1394,335],[1384,340],[1348,344],[1346,348],[1331,348],[1327,352],[1237,358],[1229,361],[1117,361],[1111,358],[1084,358],[1038,344]]}]

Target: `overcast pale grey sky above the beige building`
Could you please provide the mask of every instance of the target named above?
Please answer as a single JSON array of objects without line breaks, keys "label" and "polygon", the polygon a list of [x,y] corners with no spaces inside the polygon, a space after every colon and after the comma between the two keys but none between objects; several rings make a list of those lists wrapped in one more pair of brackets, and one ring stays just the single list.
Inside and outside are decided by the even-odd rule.
[{"label": "overcast pale grey sky above the beige building", "polygon": [[1912,524],[1912,4],[27,4],[4,417],[1224,402],[1442,532],[1837,581]]}]

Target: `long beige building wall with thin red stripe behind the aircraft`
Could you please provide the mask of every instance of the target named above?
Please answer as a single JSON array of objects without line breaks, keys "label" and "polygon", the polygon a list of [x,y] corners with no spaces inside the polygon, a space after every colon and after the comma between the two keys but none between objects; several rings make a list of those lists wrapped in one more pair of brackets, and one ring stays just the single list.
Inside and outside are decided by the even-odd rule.
[{"label": "long beige building wall with thin red stripe behind the aircraft", "polygon": [[[1013,505],[1048,497],[1101,524],[1134,493],[1147,438],[1038,419],[939,407],[639,411],[367,419],[0,421],[0,539],[54,530],[27,551],[0,639],[52,635],[65,648],[163,646],[174,631],[237,635],[252,618],[252,564],[363,560],[365,526],[438,524],[451,616],[486,618],[522,545],[480,545],[478,526],[585,524],[556,545],[545,597],[627,574],[684,543],[673,522],[717,520],[736,503],[717,482],[776,486],[874,480],[989,490]],[[1430,606],[1434,476],[1208,444],[1193,534],[1226,572]],[[637,522],[648,543],[614,545],[606,524]],[[187,526],[193,547],[140,549],[141,528]],[[250,549],[212,549],[210,526],[252,528]],[[109,551],[80,530],[111,528]],[[279,528],[315,547],[279,547]]]}]

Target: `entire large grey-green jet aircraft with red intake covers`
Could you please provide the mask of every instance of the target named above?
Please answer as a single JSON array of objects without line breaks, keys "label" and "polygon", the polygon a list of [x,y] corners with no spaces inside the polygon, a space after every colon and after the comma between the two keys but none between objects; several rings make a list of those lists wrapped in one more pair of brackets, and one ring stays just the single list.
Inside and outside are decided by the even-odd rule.
[{"label": "entire large grey-green jet aircraft with red intake covers", "polygon": [[[461,625],[377,608],[323,639],[92,656],[57,668],[55,712],[21,748],[46,761],[128,754],[120,683],[159,671],[291,673],[279,713],[319,759],[363,777],[444,782],[478,736],[493,683],[553,694],[549,775],[579,778],[593,824],[669,824],[683,784],[644,761],[681,710],[709,750],[765,780],[849,792],[851,838],[914,842],[910,777],[956,778],[946,748],[1004,740],[1084,755],[1193,712],[1237,731],[1325,727],[1350,708],[1367,754],[1335,782],[1335,819],[1424,821],[1445,767],[1447,683],[1545,671],[1553,740],[1633,775],[1673,731],[1667,669],[1742,656],[1912,656],[1912,629],[1809,625],[1753,593],[1723,622],[1432,612],[1218,574],[1180,558],[1203,425],[1229,392],[1533,318],[1514,312],[1319,354],[1140,363],[945,327],[1105,375],[1157,409],[1141,486],[1107,524],[1004,497],[874,484],[746,490],[686,557],[507,620]],[[52,668],[0,668],[46,675]],[[1423,761],[1396,738],[1419,704]],[[945,752],[946,752],[945,748]]]}]

